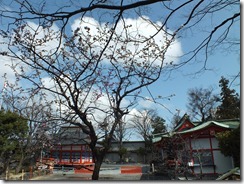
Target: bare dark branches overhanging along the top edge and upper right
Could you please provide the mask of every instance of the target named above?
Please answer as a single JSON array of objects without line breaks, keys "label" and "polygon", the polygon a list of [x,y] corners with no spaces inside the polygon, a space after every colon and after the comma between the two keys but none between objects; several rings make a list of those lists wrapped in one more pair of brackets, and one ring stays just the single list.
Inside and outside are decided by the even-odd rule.
[{"label": "bare dark branches overhanging along the top edge and upper right", "polygon": [[[161,30],[167,32],[169,27],[173,27],[175,30],[173,34],[177,32],[178,37],[183,39],[191,38],[191,35],[199,32],[204,34],[207,32],[206,36],[196,43],[194,49],[185,52],[183,61],[175,64],[175,67],[181,67],[192,60],[199,62],[197,55],[203,54],[205,57],[202,59],[202,70],[206,70],[208,69],[207,59],[209,54],[212,54],[218,47],[223,48],[225,52],[234,51],[240,53],[240,38],[231,37],[231,31],[239,29],[240,2],[238,0],[209,2],[204,0],[185,0],[181,2],[176,0],[143,0],[134,2],[91,0],[82,2],[82,4],[76,0],[71,0],[65,5],[60,2],[54,2],[52,4],[54,8],[51,11],[47,8],[45,1],[32,3],[28,0],[15,0],[11,2],[12,6],[19,6],[20,10],[5,8],[6,5],[8,3],[3,1],[2,9],[0,10],[2,18],[13,19],[15,22],[38,20],[39,24],[44,27],[57,23],[60,25],[61,35],[65,34],[68,23],[75,16],[80,16],[82,19],[84,16],[93,17],[98,14],[98,19],[101,21],[108,22],[108,17],[114,17],[113,22],[116,22],[118,16],[123,17],[129,13],[143,16],[143,14],[147,14],[147,10],[148,14],[150,14],[153,11],[153,9],[150,10],[152,5],[157,5],[164,12],[159,17],[162,25],[158,32]],[[215,15],[216,17],[221,15],[221,19],[215,19]],[[204,22],[203,25],[202,22]],[[151,35],[150,38],[156,36],[158,32]],[[170,34],[170,32],[168,33]]]}]

